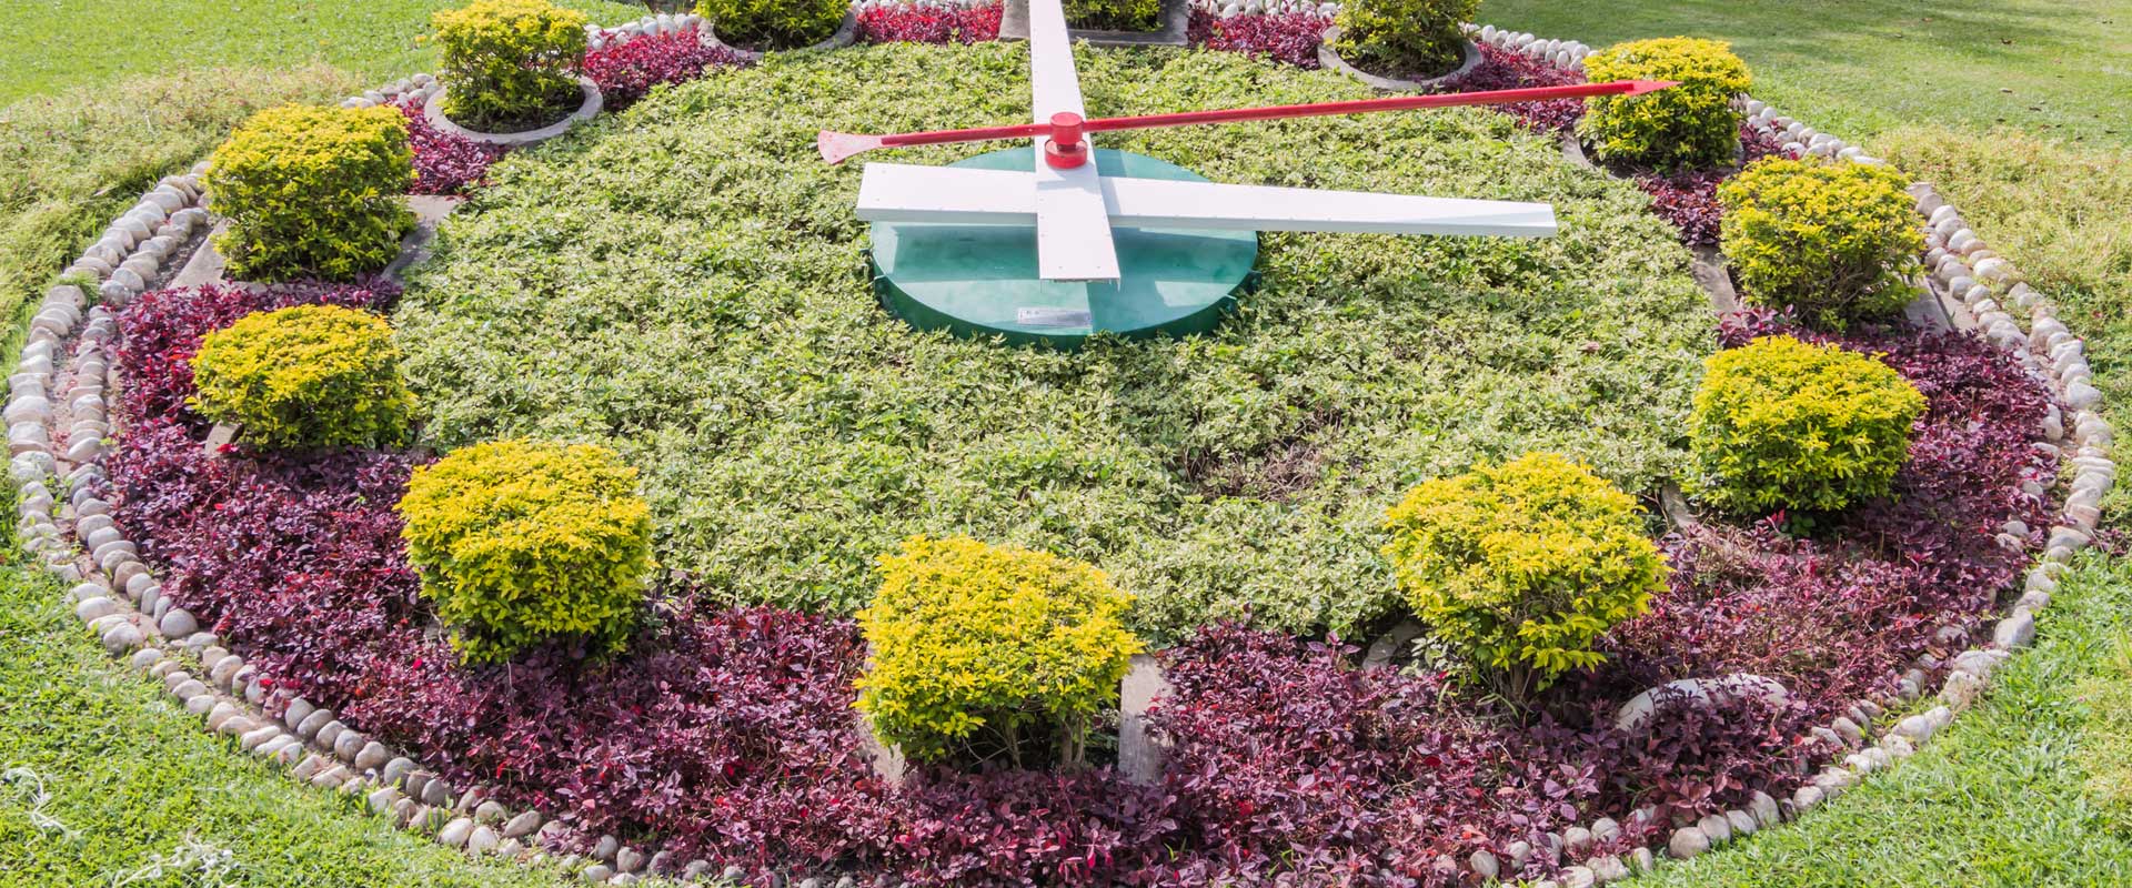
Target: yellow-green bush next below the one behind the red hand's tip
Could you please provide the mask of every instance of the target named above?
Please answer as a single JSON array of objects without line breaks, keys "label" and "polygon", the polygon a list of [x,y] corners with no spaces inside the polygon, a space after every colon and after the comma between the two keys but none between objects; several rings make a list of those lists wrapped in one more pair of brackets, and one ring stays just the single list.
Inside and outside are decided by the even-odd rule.
[{"label": "yellow-green bush next below the one behind the red hand's tip", "polygon": [[1842,330],[1917,296],[1925,234],[1902,172],[1765,158],[1718,185],[1721,241],[1748,302]]}]

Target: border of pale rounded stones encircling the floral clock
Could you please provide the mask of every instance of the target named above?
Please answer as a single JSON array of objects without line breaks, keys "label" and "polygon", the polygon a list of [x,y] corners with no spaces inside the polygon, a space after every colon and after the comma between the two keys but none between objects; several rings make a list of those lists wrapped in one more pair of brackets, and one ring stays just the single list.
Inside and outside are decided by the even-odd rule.
[{"label": "border of pale rounded stones encircling the floral clock", "polygon": [[[1213,9],[1213,0],[1194,0],[1200,9],[1217,15],[1230,13],[1237,4]],[[1258,11],[1260,0],[1251,0]],[[1315,6],[1322,15],[1326,6]],[[1275,13],[1309,11],[1305,2],[1277,4]],[[646,17],[614,32],[601,32],[605,40],[627,40],[635,34],[663,34],[687,28],[689,17]],[[610,36],[612,34],[612,36]],[[1533,60],[1556,66],[1580,68],[1590,47],[1573,40],[1537,40],[1533,34],[1497,30],[1492,26],[1471,28],[1469,34],[1482,43],[1518,51]],[[394,81],[386,87],[352,96],[343,104],[384,104],[407,98],[431,98],[437,83],[426,75]],[[1767,104],[1742,98],[1742,111],[1750,126],[1765,134],[1784,138],[1791,155],[1842,158],[1859,164],[1878,164],[1855,145],[1814,132],[1812,128],[1778,115]],[[335,788],[350,796],[362,796],[373,813],[390,816],[397,826],[433,835],[450,848],[465,848],[469,854],[499,854],[527,862],[561,862],[574,867],[588,882],[633,884],[642,871],[674,871],[682,877],[699,879],[710,875],[710,865],[691,860],[676,867],[669,852],[644,854],[623,848],[614,837],[595,843],[591,860],[578,854],[554,858],[544,845],[552,843],[561,824],[539,811],[510,811],[490,799],[492,790],[475,786],[454,792],[441,779],[416,767],[405,756],[394,756],[384,743],[348,728],[335,720],[333,711],[318,709],[303,698],[284,696],[258,681],[256,671],[237,654],[222,647],[222,639],[203,632],[198,620],[162,598],[162,588],[139,558],[136,543],[122,537],[111,522],[111,503],[102,496],[107,475],[102,458],[104,439],[111,434],[107,383],[117,375],[111,364],[111,349],[117,336],[113,307],[145,292],[166,264],[175,264],[192,239],[207,228],[198,175],[205,164],[194,166],[183,177],[164,177],[139,204],[122,213],[113,226],[66,268],[68,279],[96,281],[96,296],[90,298],[72,281],[53,285],[45,302],[30,322],[21,360],[9,377],[9,477],[19,488],[17,530],[21,547],[41,566],[75,583],[75,615],[81,618],[102,641],[111,656],[126,656],[128,662],[164,681],[164,688],[183,701],[185,709],[200,716],[209,730],[237,737],[237,745],[256,756],[290,767],[292,775],[320,788]],[[1802,786],[1787,801],[1776,801],[1763,792],[1753,796],[1746,809],[1701,818],[1697,824],[1676,824],[1667,854],[1676,858],[1697,856],[1712,845],[1721,845],[1735,835],[1770,828],[1784,818],[1840,796],[1866,775],[1887,769],[1915,754],[1944,728],[1955,711],[1966,709],[1983,692],[1991,671],[2006,662],[2015,649],[2028,647],[2036,635],[2036,613],[2040,613],[2057,579],[2064,575],[2079,549],[2091,543],[2100,522],[2100,505],[2117,477],[2117,464],[2109,458],[2113,430],[2096,411],[2102,400],[2091,383],[2085,343],[2074,336],[2057,309],[2021,281],[2019,270],[1991,251],[1974,230],[1961,219],[1932,185],[1912,185],[1917,209],[1927,224],[1925,266],[1929,268],[1929,290],[1942,300],[1955,300],[1964,326],[1981,328],[1987,339],[2013,351],[2040,379],[2053,383],[2072,415],[2057,407],[2042,422],[2038,449],[2070,454],[2064,462],[2074,477],[2060,520],[2049,528],[2045,554],[2025,575],[2023,590],[2015,607],[1993,628],[1991,643],[1957,654],[1949,662],[1921,656],[1917,669],[1900,677],[1900,692],[1880,701],[1857,701],[1844,716],[1827,728],[1812,733],[1831,739],[1842,750],[1857,750],[1840,764],[1829,764],[1810,784]],[[2028,313],[2028,330],[2000,300],[2013,302]],[[75,341],[72,353],[66,351]],[[51,392],[66,390],[64,407]],[[62,422],[70,422],[64,434],[53,434]],[[2034,488],[2034,490],[2028,490]],[[2047,494],[2030,481],[2025,494]],[[2008,532],[2025,530],[2010,528]],[[70,537],[79,537],[77,547]],[[1866,726],[1889,709],[1923,698],[1929,673],[1947,669],[1947,679],[1938,690],[1940,705],[1902,718],[1891,730],[1868,743]],[[205,675],[205,677],[196,677]],[[1160,677],[1156,677],[1160,679]],[[1151,694],[1149,694],[1151,696]],[[279,720],[264,716],[279,709]],[[1631,813],[1631,820],[1650,818],[1650,809]],[[1599,818],[1588,828],[1573,826],[1561,835],[1550,835],[1548,843],[1567,850],[1571,860],[1580,850],[1614,839],[1620,824]],[[1520,854],[1520,848],[1522,854]],[[1531,848],[1522,841],[1509,845],[1512,865],[1524,860]],[[1488,852],[1475,852],[1460,860],[1463,869],[1495,877],[1503,865]],[[1580,865],[1563,871],[1563,877],[1541,879],[1537,886],[1590,886],[1627,877],[1657,865],[1650,848],[1633,848],[1625,854],[1582,856]],[[738,867],[718,873],[731,882],[744,875]],[[849,884],[851,877],[838,879]],[[821,888],[823,879],[802,879],[800,886]]]}]

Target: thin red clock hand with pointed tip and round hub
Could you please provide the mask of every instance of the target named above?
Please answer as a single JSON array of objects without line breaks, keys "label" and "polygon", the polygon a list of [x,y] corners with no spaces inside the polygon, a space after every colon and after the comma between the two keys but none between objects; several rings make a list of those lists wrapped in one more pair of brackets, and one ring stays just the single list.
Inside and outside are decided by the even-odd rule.
[{"label": "thin red clock hand with pointed tip and round hub", "polygon": [[1546,98],[1642,96],[1646,92],[1665,89],[1676,83],[1678,81],[1578,83],[1567,87],[1456,92],[1441,96],[1358,98],[1347,102],[1273,104],[1262,109],[1222,109],[1222,111],[1179,111],[1168,115],[1141,115],[1141,117],[1081,119],[1081,115],[1062,113],[1053,115],[1049,124],[895,132],[885,136],[821,130],[821,134],[814,138],[814,147],[821,149],[821,160],[827,160],[831,164],[842,164],[846,158],[855,153],[883,147],[987,143],[998,138],[1051,136],[1051,143],[1055,147],[1053,155],[1049,158],[1051,164],[1081,166],[1087,160],[1087,151],[1081,147],[1083,132],[1147,130],[1156,126],[1192,126],[1192,124],[1234,124],[1245,119],[1358,115],[1369,111],[1448,109],[1458,104],[1512,104],[1512,102],[1537,102]]}]

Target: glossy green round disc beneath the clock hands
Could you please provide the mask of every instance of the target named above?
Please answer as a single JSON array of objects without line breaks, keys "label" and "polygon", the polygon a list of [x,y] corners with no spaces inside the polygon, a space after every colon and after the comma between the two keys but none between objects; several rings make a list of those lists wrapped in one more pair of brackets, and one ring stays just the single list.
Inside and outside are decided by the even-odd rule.
[{"label": "glossy green round disc beneath the clock hands", "polygon": [[[1028,147],[955,162],[1028,170]],[[1107,177],[1207,181],[1156,158],[1096,149]],[[874,224],[874,294],[919,330],[1077,347],[1092,334],[1190,336],[1213,330],[1256,283],[1258,232],[1111,228],[1119,281],[1036,277],[1036,228]]]}]

